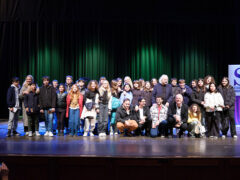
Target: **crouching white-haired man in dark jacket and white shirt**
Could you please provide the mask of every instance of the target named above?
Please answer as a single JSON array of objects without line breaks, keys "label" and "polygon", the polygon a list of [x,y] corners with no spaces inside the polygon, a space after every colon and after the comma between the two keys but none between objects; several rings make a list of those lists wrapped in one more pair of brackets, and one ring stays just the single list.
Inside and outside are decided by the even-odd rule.
[{"label": "crouching white-haired man in dark jacket and white shirt", "polygon": [[179,138],[183,135],[184,131],[187,130],[188,120],[188,106],[183,103],[183,96],[177,94],[175,102],[172,103],[168,108],[168,127],[171,130],[170,136],[172,136],[172,128],[179,128]]}]

